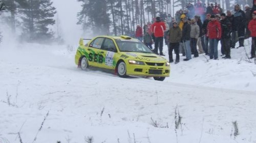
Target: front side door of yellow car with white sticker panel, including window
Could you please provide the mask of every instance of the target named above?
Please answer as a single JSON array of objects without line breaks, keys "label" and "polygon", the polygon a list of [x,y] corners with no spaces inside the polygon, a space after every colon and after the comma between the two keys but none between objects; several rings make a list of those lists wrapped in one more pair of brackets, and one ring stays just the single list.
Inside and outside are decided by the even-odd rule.
[{"label": "front side door of yellow car with white sticker panel, including window", "polygon": [[116,66],[114,59],[116,52],[114,41],[110,38],[106,38],[100,49],[100,53],[103,56],[103,62],[100,63],[100,66],[107,69],[114,69]]}]

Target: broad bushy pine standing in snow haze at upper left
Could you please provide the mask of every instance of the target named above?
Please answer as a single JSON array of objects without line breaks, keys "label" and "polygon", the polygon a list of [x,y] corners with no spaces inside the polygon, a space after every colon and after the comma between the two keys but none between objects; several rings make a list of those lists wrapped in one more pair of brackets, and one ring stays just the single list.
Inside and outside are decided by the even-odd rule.
[{"label": "broad bushy pine standing in snow haze at upper left", "polygon": [[52,40],[53,32],[48,27],[54,25],[56,8],[51,0],[26,0],[21,12],[24,14],[22,38],[26,41],[44,42]]}]

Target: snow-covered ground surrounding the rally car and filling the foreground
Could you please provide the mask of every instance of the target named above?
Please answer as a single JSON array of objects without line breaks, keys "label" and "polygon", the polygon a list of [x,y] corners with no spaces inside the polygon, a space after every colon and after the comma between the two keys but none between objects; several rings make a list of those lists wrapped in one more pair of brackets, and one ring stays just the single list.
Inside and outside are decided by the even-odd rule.
[{"label": "snow-covered ground surrounding the rally car and filling the foreground", "polygon": [[0,143],[256,142],[256,65],[244,49],[171,64],[160,82],[81,71],[76,46],[0,45]]}]

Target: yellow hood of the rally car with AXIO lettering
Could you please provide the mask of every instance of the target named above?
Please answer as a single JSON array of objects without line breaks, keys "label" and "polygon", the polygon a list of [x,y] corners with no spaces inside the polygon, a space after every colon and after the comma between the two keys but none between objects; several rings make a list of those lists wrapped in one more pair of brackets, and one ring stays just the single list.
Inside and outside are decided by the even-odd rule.
[{"label": "yellow hood of the rally car with AXIO lettering", "polygon": [[154,53],[141,53],[141,52],[121,52],[122,55],[126,56],[126,59],[144,61],[144,62],[167,62],[162,56]]}]

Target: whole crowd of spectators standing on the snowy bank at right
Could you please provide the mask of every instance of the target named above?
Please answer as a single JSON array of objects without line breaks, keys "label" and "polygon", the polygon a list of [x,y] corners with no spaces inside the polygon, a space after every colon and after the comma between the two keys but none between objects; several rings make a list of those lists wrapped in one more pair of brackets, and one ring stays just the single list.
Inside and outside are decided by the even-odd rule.
[{"label": "whole crowd of spectators standing on the snowy bank at right", "polygon": [[[199,54],[218,60],[218,43],[221,44],[223,59],[230,59],[230,49],[244,47],[244,40],[252,37],[251,57],[255,58],[256,49],[256,0],[253,7],[239,4],[226,12],[220,4],[188,4],[184,10],[170,14],[156,15],[156,20],[142,27],[137,25],[135,37],[143,41],[156,54],[163,54],[163,45],[167,45],[169,62],[173,62],[172,51],[176,54],[175,64],[180,62],[180,54],[188,61]],[[238,39],[239,46],[235,47]],[[154,49],[152,44],[155,44]]]}]

